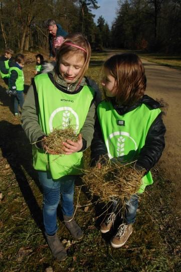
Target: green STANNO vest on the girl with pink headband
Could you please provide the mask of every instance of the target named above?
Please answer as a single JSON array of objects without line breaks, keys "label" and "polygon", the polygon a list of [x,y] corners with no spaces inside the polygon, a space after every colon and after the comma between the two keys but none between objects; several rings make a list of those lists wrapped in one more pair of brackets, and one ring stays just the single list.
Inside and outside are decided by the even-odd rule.
[{"label": "green STANNO vest on the girl with pink headband", "polygon": [[[64,128],[70,124],[75,126],[78,134],[94,97],[93,89],[84,86],[78,93],[65,93],[56,88],[48,74],[36,76],[35,84],[39,101],[39,124],[44,133],[48,135],[53,128]],[[34,168],[50,171],[53,179],[65,175],[80,175],[83,169],[82,152],[51,155],[33,145],[33,158]]]}]

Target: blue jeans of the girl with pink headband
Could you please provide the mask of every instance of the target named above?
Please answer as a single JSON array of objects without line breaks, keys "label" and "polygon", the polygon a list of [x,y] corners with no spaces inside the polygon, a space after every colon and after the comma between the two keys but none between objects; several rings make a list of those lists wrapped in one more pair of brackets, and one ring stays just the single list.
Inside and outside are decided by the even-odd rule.
[{"label": "blue jeans of the girl with pink headband", "polygon": [[45,231],[53,235],[57,229],[57,207],[60,202],[63,215],[73,216],[74,183],[76,176],[64,176],[53,180],[50,172],[39,171],[39,180],[44,193],[43,218]]}]

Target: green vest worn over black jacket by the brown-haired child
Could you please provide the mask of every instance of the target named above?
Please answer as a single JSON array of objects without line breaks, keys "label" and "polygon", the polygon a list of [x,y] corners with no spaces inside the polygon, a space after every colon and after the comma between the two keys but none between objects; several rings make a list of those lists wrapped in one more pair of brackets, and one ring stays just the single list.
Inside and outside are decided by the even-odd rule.
[{"label": "green vest worn over black jacket by the brown-haired child", "polygon": [[[109,158],[119,158],[122,163],[137,160],[147,132],[160,112],[160,109],[141,104],[134,110],[120,115],[111,102],[102,101],[97,113]],[[145,187],[153,183],[150,171],[142,181],[138,193],[144,192]]]}]

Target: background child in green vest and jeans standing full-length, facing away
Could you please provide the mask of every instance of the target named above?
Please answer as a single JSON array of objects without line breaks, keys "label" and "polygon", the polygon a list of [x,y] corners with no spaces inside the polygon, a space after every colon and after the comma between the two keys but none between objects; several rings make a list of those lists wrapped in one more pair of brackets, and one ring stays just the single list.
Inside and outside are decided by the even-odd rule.
[{"label": "background child in green vest and jeans standing full-length, facing away", "polygon": [[18,54],[15,57],[15,64],[9,69],[9,94],[14,95],[15,116],[19,116],[19,105],[22,110],[24,103],[24,73],[25,57]]}]

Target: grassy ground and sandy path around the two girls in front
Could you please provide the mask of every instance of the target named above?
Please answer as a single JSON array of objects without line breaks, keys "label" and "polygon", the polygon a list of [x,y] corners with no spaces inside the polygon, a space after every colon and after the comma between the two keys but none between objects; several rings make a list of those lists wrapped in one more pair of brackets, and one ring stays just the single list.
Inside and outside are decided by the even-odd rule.
[{"label": "grassy ground and sandy path around the two girls in front", "polygon": [[[93,53],[88,75],[100,83],[101,66],[107,56],[119,51]],[[35,54],[27,53],[24,68],[26,90],[31,83]],[[11,97],[0,81],[0,271],[181,271],[180,214],[180,76],[181,72],[143,59],[147,94],[165,105],[163,121],[166,147],[153,168],[154,184],[140,196],[134,230],[118,249],[110,246],[110,234],[99,231],[92,204],[80,184],[75,189],[76,221],[84,231],[82,240],[73,240],[58,209],[58,234],[68,250],[63,262],[55,260],[43,234],[42,191],[32,167],[32,152],[20,118],[13,115]],[[84,154],[89,162],[89,150]],[[77,204],[78,202],[78,204]]]}]

